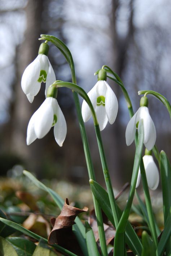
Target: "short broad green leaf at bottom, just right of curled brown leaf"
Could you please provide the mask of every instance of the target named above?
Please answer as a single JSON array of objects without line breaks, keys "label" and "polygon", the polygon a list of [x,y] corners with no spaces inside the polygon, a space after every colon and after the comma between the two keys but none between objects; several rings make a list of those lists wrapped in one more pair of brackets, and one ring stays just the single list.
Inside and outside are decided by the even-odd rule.
[{"label": "short broad green leaf at bottom, just right of curled brown leaf", "polygon": [[92,255],[100,256],[98,249],[97,249],[97,244],[96,244],[93,230],[87,221],[86,221],[85,226],[86,226],[86,243],[87,243],[87,248],[88,248],[88,255],[89,256],[92,256]]}]

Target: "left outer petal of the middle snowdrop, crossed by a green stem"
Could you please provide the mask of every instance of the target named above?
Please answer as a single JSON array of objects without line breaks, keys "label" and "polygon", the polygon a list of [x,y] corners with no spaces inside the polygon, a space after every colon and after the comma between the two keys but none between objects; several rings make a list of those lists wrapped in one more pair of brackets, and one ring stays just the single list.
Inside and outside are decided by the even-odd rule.
[{"label": "left outer petal of the middle snowdrop, crossed by a green stem", "polygon": [[[98,81],[99,82],[99,81]],[[97,103],[97,93],[96,93],[96,87],[98,85],[98,82],[93,86],[93,88],[87,93],[88,97],[90,98],[93,107],[96,107]],[[82,104],[82,116],[84,122],[87,122],[91,118],[91,111],[87,104],[87,102],[84,100]]]}]

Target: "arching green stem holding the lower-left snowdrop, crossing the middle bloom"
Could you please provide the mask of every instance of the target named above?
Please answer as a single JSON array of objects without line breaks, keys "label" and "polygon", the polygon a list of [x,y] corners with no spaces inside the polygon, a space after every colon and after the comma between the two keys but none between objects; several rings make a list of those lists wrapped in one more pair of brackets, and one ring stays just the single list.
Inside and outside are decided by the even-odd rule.
[{"label": "arching green stem holding the lower-left snowdrop, crossing the middle bloom", "polygon": [[108,169],[106,156],[105,156],[105,152],[104,152],[104,147],[103,147],[103,143],[102,143],[102,139],[101,139],[100,128],[99,128],[99,125],[98,125],[97,116],[96,116],[96,112],[93,108],[93,105],[92,105],[87,93],[81,87],[79,87],[76,84],[73,84],[73,83],[70,83],[70,82],[56,81],[51,86],[67,87],[71,90],[74,90],[78,94],[80,94],[83,97],[83,99],[85,99],[85,101],[89,105],[89,108],[90,108],[91,113],[92,113],[94,125],[95,125],[97,143],[98,143],[98,148],[99,148],[99,152],[100,152],[100,158],[101,158],[101,163],[102,163],[102,169],[103,169],[103,172],[104,172],[106,187],[107,187],[108,193],[109,193],[109,200],[110,200],[111,210],[112,210],[112,213],[113,213],[113,218],[114,218],[114,221],[115,221],[115,225],[117,226],[118,222],[119,222],[117,204],[116,204],[116,201],[115,201],[115,198],[114,198],[113,187],[111,185],[109,169]]}]

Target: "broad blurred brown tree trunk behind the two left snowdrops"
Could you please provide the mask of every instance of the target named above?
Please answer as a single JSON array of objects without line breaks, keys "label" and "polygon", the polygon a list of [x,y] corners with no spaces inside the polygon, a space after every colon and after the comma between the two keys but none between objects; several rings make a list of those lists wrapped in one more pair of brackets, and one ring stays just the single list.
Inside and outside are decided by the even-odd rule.
[{"label": "broad blurred brown tree trunk behind the two left snowdrops", "polygon": [[[10,120],[10,151],[23,159],[31,159],[32,156],[39,158],[39,151],[34,147],[26,145],[27,125],[31,115],[40,106],[41,97],[38,95],[32,104],[27,100],[21,89],[21,77],[25,68],[38,55],[40,42],[38,38],[44,33],[41,29],[43,12],[43,0],[29,0],[25,8],[27,28],[25,40],[17,49],[17,81],[14,85],[14,101]],[[30,166],[27,166],[30,167]]]}]

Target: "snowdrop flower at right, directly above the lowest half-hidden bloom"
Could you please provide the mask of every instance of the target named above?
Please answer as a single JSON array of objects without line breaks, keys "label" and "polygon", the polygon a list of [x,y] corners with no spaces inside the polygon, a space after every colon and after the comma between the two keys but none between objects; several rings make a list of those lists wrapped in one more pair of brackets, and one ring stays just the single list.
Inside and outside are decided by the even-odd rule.
[{"label": "snowdrop flower at right, directly above the lowest half-hidden bloom", "polygon": [[148,150],[151,150],[154,147],[155,140],[156,140],[156,131],[155,131],[155,126],[149,114],[149,110],[147,106],[148,106],[148,98],[142,97],[140,101],[140,108],[137,110],[135,115],[131,118],[126,128],[127,146],[132,144],[135,138],[136,127],[138,126],[139,121],[142,119],[143,128],[144,128],[144,145]]}]

